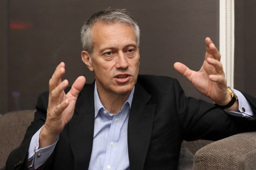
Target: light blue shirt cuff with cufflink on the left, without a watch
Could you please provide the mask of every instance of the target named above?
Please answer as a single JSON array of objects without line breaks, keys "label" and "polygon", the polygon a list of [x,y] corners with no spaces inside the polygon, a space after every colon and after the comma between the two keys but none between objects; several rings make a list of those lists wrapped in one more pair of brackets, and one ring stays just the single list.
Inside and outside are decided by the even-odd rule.
[{"label": "light blue shirt cuff with cufflink on the left, without a watch", "polygon": [[32,137],[29,145],[29,153],[28,153],[28,160],[30,161],[33,159],[32,164],[29,166],[32,167],[34,166],[35,169],[38,167],[42,166],[46,160],[50,157],[50,155],[53,153],[54,148],[59,140],[59,137],[57,140],[50,146],[47,146],[45,148],[40,148],[39,147],[39,135],[41,132],[41,129],[43,126],[35,133],[35,135]]}]

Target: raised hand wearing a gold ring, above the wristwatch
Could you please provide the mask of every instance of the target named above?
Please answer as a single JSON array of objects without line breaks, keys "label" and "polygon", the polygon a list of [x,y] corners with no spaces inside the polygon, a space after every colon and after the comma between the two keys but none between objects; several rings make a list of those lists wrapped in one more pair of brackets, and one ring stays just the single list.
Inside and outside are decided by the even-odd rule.
[{"label": "raised hand wearing a gold ring, above the wristwatch", "polygon": [[227,80],[220,62],[220,53],[209,37],[205,39],[206,53],[199,71],[190,70],[182,63],[174,63],[174,68],[184,75],[202,94],[219,105],[226,105],[231,96],[227,93]]}]

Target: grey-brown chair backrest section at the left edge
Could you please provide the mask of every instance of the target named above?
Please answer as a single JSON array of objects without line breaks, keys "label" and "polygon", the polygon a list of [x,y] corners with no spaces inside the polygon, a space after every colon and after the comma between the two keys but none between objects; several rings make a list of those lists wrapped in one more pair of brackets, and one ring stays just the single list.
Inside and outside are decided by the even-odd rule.
[{"label": "grey-brown chair backrest section at the left edge", "polygon": [[34,113],[35,110],[21,110],[0,114],[0,169],[10,152],[21,144]]}]

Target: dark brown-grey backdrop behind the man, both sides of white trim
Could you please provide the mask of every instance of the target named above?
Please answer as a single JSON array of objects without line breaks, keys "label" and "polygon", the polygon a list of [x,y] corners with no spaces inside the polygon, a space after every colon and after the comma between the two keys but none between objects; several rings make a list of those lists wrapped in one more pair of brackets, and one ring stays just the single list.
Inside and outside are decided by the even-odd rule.
[{"label": "dark brown-grey backdrop behind the man, both sides of white trim", "polygon": [[[0,114],[35,109],[62,61],[70,85],[80,75],[91,83],[94,75],[81,61],[79,32],[87,18],[108,7],[127,8],[140,26],[140,74],[177,78],[187,96],[211,102],[173,64],[199,70],[207,36],[219,48],[219,0],[2,0]],[[234,87],[256,97],[255,7],[254,0],[235,0]]]}]

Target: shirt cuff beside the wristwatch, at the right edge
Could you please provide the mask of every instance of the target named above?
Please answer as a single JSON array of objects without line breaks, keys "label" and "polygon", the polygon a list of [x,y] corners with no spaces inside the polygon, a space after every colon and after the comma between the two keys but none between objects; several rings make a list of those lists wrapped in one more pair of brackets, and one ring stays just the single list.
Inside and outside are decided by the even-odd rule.
[{"label": "shirt cuff beside the wristwatch, at the right edge", "polygon": [[237,117],[245,117],[245,118],[254,120],[255,114],[252,111],[252,107],[250,106],[249,102],[245,99],[244,95],[238,90],[233,89],[233,91],[237,95],[238,109],[240,112],[234,112],[229,110],[225,110],[225,112],[229,115],[233,115]]}]

